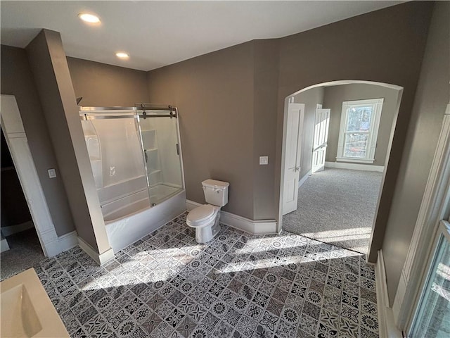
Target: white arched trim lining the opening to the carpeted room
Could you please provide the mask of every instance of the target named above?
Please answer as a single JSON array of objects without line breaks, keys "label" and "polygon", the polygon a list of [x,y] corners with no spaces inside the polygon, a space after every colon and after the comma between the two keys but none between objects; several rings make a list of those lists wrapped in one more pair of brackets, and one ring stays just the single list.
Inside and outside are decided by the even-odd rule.
[{"label": "white arched trim lining the opening to the carpeted room", "polygon": [[[391,134],[390,134],[390,142],[389,142],[389,146],[387,149],[387,158],[386,158],[386,163],[389,161],[389,154],[390,154],[390,147],[392,144],[392,139],[394,137],[394,128],[397,122],[397,114],[399,112],[399,106],[400,106],[400,102],[401,102],[401,96],[403,94],[403,87],[401,86],[397,86],[397,84],[388,84],[388,83],[384,83],[384,82],[375,82],[375,81],[366,81],[366,80],[337,80],[337,81],[329,81],[329,82],[322,82],[319,84],[313,84],[309,87],[305,87],[303,89],[300,89],[299,91],[290,94],[288,96],[285,97],[284,99],[284,112],[283,112],[283,142],[282,142],[282,146],[281,146],[281,175],[280,175],[280,196],[279,196],[279,201],[278,201],[278,222],[276,223],[276,231],[279,233],[281,232],[281,230],[283,230],[283,198],[284,198],[284,173],[285,173],[285,149],[286,149],[286,128],[287,128],[287,115],[288,115],[288,104],[291,98],[293,98],[295,95],[300,94],[302,92],[306,92],[309,89],[313,89],[313,88],[317,88],[317,87],[327,87],[327,86],[338,86],[338,85],[342,85],[342,84],[375,84],[378,86],[382,86],[382,87],[387,87],[390,89],[395,89],[397,91],[399,91],[399,97],[397,100],[397,111],[396,111],[396,115],[394,117],[394,122],[392,123],[392,130],[391,130]],[[385,181],[385,175],[386,175],[386,168],[387,165],[385,165],[385,168],[383,169],[383,180],[382,180],[382,184],[380,187],[380,192],[383,189],[383,184]],[[380,205],[380,194],[378,194],[378,201],[377,201],[377,206],[375,209],[375,215],[378,214],[378,206]],[[376,220],[376,219],[375,219]],[[375,224],[375,220],[374,220],[374,224]],[[375,227],[372,225],[372,232],[371,232],[371,239],[369,242],[369,248],[368,248],[368,253],[371,253],[371,246],[372,246],[372,242],[373,242],[373,233],[374,233]]]}]

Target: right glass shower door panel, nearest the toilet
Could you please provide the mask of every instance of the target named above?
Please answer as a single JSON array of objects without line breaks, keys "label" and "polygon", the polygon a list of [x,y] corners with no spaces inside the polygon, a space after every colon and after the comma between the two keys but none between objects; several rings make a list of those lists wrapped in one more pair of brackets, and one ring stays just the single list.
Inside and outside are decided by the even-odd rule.
[{"label": "right glass shower door panel, nearest the toilet", "polygon": [[155,206],[184,189],[178,120],[174,110],[138,111],[147,167],[150,204]]}]

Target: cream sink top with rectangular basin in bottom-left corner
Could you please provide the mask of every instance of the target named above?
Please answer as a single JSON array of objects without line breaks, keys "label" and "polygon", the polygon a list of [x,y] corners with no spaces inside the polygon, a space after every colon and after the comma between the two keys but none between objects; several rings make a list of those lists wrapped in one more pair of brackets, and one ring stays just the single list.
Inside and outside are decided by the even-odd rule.
[{"label": "cream sink top with rectangular basin in bottom-left corner", "polygon": [[1,337],[70,337],[34,269],[0,283]]}]

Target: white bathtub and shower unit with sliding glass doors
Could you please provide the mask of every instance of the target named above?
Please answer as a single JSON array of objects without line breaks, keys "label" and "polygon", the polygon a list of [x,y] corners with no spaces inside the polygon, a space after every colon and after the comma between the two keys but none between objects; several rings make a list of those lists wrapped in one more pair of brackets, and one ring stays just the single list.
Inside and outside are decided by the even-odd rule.
[{"label": "white bathtub and shower unit with sliding glass doors", "polygon": [[79,108],[114,251],[186,211],[176,108]]}]

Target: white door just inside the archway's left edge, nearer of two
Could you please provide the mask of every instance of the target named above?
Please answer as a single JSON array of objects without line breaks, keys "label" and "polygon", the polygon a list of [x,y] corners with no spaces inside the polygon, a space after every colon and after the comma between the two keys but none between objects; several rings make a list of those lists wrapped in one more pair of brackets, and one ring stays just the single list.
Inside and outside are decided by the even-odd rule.
[{"label": "white door just inside the archway's left edge, nearer of two", "polygon": [[297,210],[304,104],[289,104],[286,128],[283,215]]}]

